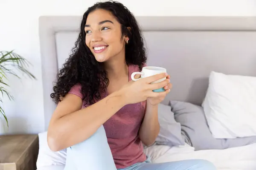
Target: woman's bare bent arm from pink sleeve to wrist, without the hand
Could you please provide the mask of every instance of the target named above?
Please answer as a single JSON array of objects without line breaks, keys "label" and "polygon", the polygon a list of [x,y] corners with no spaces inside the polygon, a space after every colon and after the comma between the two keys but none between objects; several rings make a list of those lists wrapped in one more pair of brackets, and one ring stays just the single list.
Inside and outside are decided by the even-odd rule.
[{"label": "woman's bare bent arm from pink sleeve to wrist, without the hand", "polygon": [[81,109],[81,98],[67,94],[58,103],[49,123],[47,142],[50,149],[58,151],[86,140],[124,105],[123,97],[114,92]]}]

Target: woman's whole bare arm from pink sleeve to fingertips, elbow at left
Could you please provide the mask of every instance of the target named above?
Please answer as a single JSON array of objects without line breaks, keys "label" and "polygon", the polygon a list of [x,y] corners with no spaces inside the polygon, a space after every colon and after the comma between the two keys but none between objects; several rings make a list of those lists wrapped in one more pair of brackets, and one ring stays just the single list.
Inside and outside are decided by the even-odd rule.
[{"label": "woman's whole bare arm from pink sleeve to fingertips, elbow at left", "polygon": [[145,101],[148,97],[157,97],[153,89],[163,87],[166,83],[151,84],[162,79],[165,74],[157,74],[128,82],[119,91],[104,99],[81,109],[82,99],[74,94],[67,94],[58,103],[49,123],[47,142],[51,150],[58,151],[73,146],[89,138],[113,114],[127,104]]}]

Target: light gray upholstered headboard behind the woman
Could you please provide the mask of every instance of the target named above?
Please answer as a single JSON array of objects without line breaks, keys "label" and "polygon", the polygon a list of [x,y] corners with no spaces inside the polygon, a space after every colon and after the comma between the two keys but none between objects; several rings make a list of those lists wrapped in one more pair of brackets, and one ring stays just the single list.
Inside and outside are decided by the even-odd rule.
[{"label": "light gray upholstered headboard behind the woman", "polygon": [[[148,65],[167,68],[173,84],[164,103],[201,105],[210,71],[256,76],[256,17],[137,17],[148,49]],[[58,68],[76,41],[81,17],[44,16],[39,33],[47,129]]]}]

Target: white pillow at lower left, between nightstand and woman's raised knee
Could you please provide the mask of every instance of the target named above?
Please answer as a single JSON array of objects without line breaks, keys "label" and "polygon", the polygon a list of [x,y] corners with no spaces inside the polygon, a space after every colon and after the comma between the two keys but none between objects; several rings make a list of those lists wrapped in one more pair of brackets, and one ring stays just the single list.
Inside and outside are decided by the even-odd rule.
[{"label": "white pillow at lower left, between nightstand and woman's raised knee", "polygon": [[47,132],[39,133],[39,151],[36,162],[37,170],[64,170],[67,150],[53,152],[47,144]]}]

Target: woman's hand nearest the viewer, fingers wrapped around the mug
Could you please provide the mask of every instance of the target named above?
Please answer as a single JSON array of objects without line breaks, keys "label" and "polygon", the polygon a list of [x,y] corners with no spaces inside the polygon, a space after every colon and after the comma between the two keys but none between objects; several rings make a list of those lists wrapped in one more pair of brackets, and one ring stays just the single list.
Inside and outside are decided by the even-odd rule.
[{"label": "woman's hand nearest the viewer, fingers wrapped around the mug", "polygon": [[153,90],[163,88],[169,84],[169,79],[162,82],[151,84],[159,79],[167,77],[166,73],[156,74],[150,77],[145,77],[137,81],[130,81],[124,85],[118,92],[124,97],[125,104],[133,104],[145,101],[148,97],[158,97],[166,95],[168,91],[154,92]]}]

